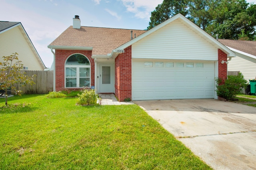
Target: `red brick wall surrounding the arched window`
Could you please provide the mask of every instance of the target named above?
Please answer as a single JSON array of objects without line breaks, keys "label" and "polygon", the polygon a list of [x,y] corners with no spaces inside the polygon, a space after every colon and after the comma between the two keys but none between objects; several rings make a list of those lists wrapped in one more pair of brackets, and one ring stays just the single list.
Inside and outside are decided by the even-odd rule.
[{"label": "red brick wall surrounding the arched window", "polygon": [[[56,49],[55,50],[55,87],[56,91],[65,89],[65,61],[70,55],[74,53],[80,53],[85,55],[91,65],[91,85],[94,86],[94,59],[92,59],[92,51],[87,50],[67,50]],[[82,89],[82,88],[66,88],[69,90]]]}]

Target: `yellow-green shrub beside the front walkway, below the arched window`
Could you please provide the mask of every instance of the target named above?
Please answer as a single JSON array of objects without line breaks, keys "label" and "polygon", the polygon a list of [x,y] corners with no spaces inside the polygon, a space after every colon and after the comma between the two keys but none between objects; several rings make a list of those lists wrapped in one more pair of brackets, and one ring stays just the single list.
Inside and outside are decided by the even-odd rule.
[{"label": "yellow-green shrub beside the front walkway, below the arched window", "polygon": [[82,91],[82,94],[77,94],[78,99],[77,103],[78,105],[94,105],[97,103],[97,95],[95,93],[95,90],[87,90],[84,89]]}]

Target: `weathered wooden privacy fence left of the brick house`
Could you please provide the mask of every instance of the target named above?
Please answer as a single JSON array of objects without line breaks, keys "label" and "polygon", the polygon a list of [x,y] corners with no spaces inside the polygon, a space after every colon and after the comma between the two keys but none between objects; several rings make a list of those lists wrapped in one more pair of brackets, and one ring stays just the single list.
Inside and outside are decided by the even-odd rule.
[{"label": "weathered wooden privacy fence left of the brick house", "polygon": [[26,70],[26,75],[33,77],[36,84],[20,87],[16,85],[17,90],[21,90],[22,94],[45,94],[53,91],[53,71],[30,71]]}]

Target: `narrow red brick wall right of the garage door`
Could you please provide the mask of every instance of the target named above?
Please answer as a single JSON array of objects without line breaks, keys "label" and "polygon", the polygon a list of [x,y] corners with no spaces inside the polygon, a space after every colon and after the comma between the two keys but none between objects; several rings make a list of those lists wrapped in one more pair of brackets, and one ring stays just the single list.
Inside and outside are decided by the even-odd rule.
[{"label": "narrow red brick wall right of the garage door", "polygon": [[218,77],[224,80],[227,79],[228,65],[226,63],[222,64],[222,60],[227,61],[227,54],[224,53],[221,49],[218,49]]}]

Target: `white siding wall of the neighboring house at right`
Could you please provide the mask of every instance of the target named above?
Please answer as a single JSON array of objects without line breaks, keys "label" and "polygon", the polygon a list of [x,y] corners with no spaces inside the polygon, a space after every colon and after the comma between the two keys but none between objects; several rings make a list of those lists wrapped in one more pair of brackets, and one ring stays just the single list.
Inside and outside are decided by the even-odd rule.
[{"label": "white siding wall of the neighboring house at right", "polygon": [[240,71],[246,80],[255,79],[256,59],[240,53],[236,55],[228,62],[228,71]]}]

